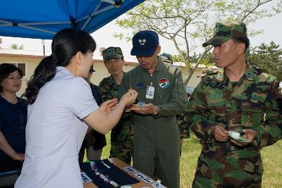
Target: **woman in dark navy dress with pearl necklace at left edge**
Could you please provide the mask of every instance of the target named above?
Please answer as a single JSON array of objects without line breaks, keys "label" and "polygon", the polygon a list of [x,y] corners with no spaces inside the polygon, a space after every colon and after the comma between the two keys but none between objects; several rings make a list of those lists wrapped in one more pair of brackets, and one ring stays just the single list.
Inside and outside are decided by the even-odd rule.
[{"label": "woman in dark navy dress with pearl necklace at left edge", "polygon": [[16,96],[23,72],[13,64],[0,64],[0,173],[22,168],[25,159],[27,101]]}]

